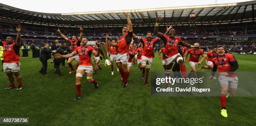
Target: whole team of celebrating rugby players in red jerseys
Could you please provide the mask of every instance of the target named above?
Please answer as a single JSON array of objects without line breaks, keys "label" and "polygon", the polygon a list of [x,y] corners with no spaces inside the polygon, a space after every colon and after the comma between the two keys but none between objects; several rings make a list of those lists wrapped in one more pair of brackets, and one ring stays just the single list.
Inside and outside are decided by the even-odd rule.
[{"label": "whole team of celebrating rugby players in red jerseys", "polygon": [[[154,57],[154,47],[156,43],[161,41],[163,48],[158,52],[159,59],[162,60],[162,65],[166,71],[166,76],[170,76],[171,72],[179,72],[180,76],[187,78],[196,74],[197,64],[202,64],[202,62],[207,58],[207,66],[201,66],[200,69],[210,69],[212,76],[209,79],[217,79],[214,75],[215,72],[219,71],[219,82],[221,86],[221,115],[228,117],[226,110],[226,98],[228,98],[229,93],[236,95],[238,77],[236,76],[236,69],[238,69],[238,62],[233,56],[233,54],[225,53],[224,46],[218,46],[212,49],[212,51],[207,52],[205,55],[202,49],[200,49],[200,44],[195,43],[190,45],[182,41],[180,37],[175,36],[175,30],[172,26],[166,27],[166,32],[163,34],[159,32],[158,27],[161,21],[161,18],[156,19],[156,25],[154,28],[154,35],[158,38],[152,38],[152,32],[147,32],[146,37],[140,37],[133,33],[133,26],[131,19],[128,13],[125,13],[127,17],[128,25],[123,27],[122,36],[118,37],[116,40],[110,42],[108,40],[108,34],[106,35],[105,43],[109,46],[108,52],[110,54],[110,63],[111,63],[111,74],[114,74],[113,65],[114,62],[118,67],[118,72],[121,74],[121,85],[125,88],[128,86],[128,78],[132,68],[132,62],[134,65],[138,65],[138,68],[141,70],[141,79],[145,77],[145,86],[148,86],[148,77],[150,69],[153,64]],[[6,42],[0,41],[0,46],[3,46],[3,55],[4,55],[4,64],[3,69],[6,72],[8,79],[10,81],[10,86],[4,90],[15,88],[14,77],[16,77],[18,82],[17,91],[23,89],[21,77],[19,74],[20,62],[19,62],[19,49],[20,49],[20,32],[21,28],[18,26],[17,38],[14,42],[12,37],[7,37]],[[60,33],[61,37],[67,40],[72,47],[72,53],[70,54],[60,54],[58,51],[54,50],[54,58],[69,58],[68,65],[70,67],[70,74],[76,73],[75,85],[77,89],[77,96],[74,100],[78,100],[82,97],[81,93],[81,79],[86,74],[86,79],[88,82],[93,83],[95,88],[99,87],[98,82],[93,78],[93,74],[97,73],[97,69],[100,67],[100,50],[101,46],[98,41],[95,42],[93,47],[87,45],[88,39],[82,37],[83,29],[80,28],[80,36],[77,39],[76,36],[73,36],[72,39],[68,39],[65,35],[61,33],[60,30],[57,30]],[[133,39],[138,40],[140,43],[136,46],[133,43]],[[187,47],[190,48],[187,50]],[[162,53],[162,57],[161,57]],[[187,56],[190,54],[189,65],[191,70],[187,74],[187,69],[185,63],[187,61]],[[93,69],[91,55],[95,57],[95,68]],[[200,56],[202,59],[199,61]],[[77,65],[76,69],[73,68],[72,62],[76,60]],[[135,63],[136,62],[136,63]],[[166,85],[168,86],[168,85]],[[186,86],[188,86],[186,84]]]}]

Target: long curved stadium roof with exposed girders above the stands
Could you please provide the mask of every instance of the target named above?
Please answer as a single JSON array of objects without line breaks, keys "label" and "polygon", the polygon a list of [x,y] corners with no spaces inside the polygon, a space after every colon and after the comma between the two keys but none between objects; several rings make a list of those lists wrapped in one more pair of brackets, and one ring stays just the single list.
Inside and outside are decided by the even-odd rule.
[{"label": "long curved stadium roof with exposed girders above the stands", "polygon": [[0,3],[0,19],[36,25],[67,27],[123,26],[127,24],[124,12],[129,12],[133,24],[138,26],[154,25],[156,17],[164,18],[160,25],[189,24],[191,13],[196,15],[195,24],[254,22],[256,18],[256,0],[215,5],[64,14],[33,12]]}]

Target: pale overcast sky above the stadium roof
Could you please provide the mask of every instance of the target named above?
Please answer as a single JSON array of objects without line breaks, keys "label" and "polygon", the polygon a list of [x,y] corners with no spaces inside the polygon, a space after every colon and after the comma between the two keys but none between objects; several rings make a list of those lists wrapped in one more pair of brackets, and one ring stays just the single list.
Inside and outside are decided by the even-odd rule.
[{"label": "pale overcast sky above the stadium roof", "polygon": [[93,12],[105,10],[134,10],[159,7],[179,7],[245,2],[250,0],[0,0],[0,3],[24,10],[47,13]]}]

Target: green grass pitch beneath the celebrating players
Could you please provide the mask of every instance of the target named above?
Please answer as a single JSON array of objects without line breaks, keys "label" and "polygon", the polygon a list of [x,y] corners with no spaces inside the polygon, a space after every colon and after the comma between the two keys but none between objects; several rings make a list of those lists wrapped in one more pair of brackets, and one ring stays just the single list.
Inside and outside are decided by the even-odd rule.
[{"label": "green grass pitch beneath the celebrating players", "polygon": [[[155,53],[151,71],[164,71]],[[220,115],[220,97],[154,97],[144,86],[138,67],[132,67],[126,88],[120,86],[120,74],[110,66],[93,75],[99,83],[82,79],[82,99],[76,96],[75,74],[61,67],[63,76],[56,77],[53,64],[43,76],[38,71],[38,58],[20,57],[23,89],[3,91],[8,78],[0,72],[0,117],[29,117],[30,126],[255,126],[256,97],[227,99],[228,118]],[[256,56],[236,54],[241,72],[256,71]],[[50,60],[49,60],[50,61]],[[49,62],[48,61],[48,62]],[[73,62],[75,63],[75,62]],[[101,61],[103,63],[103,61]],[[205,62],[204,62],[205,65]],[[0,65],[2,67],[2,65]],[[75,66],[75,65],[74,65]],[[190,69],[186,64],[187,71]],[[197,67],[198,69],[199,67]],[[201,71],[207,71],[202,69]],[[15,85],[17,82],[15,80]],[[239,86],[239,84],[238,84]],[[239,90],[238,90],[239,91]],[[4,124],[0,124],[3,126]],[[6,124],[7,125],[7,124]],[[11,126],[12,124],[8,124]]]}]

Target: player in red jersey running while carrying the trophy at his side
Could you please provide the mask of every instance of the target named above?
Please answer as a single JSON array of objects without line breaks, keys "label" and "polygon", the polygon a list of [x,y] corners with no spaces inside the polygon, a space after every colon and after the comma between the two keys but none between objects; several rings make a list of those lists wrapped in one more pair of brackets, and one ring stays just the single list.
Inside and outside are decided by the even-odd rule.
[{"label": "player in red jersey running while carrying the trophy at his side", "polygon": [[78,100],[82,97],[81,94],[81,79],[84,76],[84,73],[87,74],[87,81],[90,83],[95,84],[95,88],[98,88],[98,83],[95,79],[92,78],[92,60],[91,55],[93,54],[95,57],[99,56],[99,50],[96,52],[91,46],[87,46],[87,38],[82,38],[81,46],[77,47],[71,54],[61,55],[57,54],[57,58],[69,58],[74,57],[75,55],[79,56],[80,62],[79,67],[77,68],[76,73],[76,89],[77,89],[77,96],[74,100]]}]

